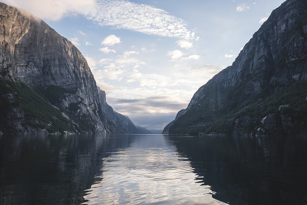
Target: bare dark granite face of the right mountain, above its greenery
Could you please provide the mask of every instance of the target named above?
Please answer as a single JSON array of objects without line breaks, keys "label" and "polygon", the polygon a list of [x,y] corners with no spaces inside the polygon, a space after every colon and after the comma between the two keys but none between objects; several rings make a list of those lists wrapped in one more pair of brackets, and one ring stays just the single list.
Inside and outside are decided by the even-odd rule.
[{"label": "bare dark granite face of the right mountain, above its greenery", "polygon": [[[276,121],[275,115],[275,118],[272,118],[270,122],[265,121],[265,124],[256,125],[258,120],[247,120],[248,117],[244,116],[243,112],[249,107],[241,109],[239,106],[251,103],[259,104],[263,101],[253,99],[253,97],[262,95],[267,98],[268,95],[285,89],[287,86],[306,82],[306,42],[307,1],[287,0],[272,11],[268,20],[244,46],[231,66],[223,69],[196,91],[185,114],[179,118],[180,120],[174,122],[170,133],[184,133],[184,130],[188,132],[187,126],[190,122],[201,121],[212,122],[207,128],[211,127],[209,130],[211,129],[212,132],[221,132],[212,130],[213,127],[217,127],[212,124],[216,120],[226,118],[227,114],[234,111],[238,112],[233,116],[227,116],[228,120],[224,119],[224,124],[227,124],[225,130],[226,127],[232,126],[232,130],[228,130],[227,133],[242,133],[245,132],[244,130],[254,128],[257,128],[256,131],[258,130],[256,133],[261,133],[262,129],[274,130],[276,123],[280,123],[280,120]],[[268,95],[264,93],[268,93]],[[301,104],[300,106],[305,106],[304,102]],[[261,112],[264,112],[262,108]],[[278,112],[278,110],[275,109],[274,112]],[[236,116],[238,114],[241,116]],[[269,114],[273,115],[274,113]],[[272,117],[266,115],[268,118]],[[281,114],[278,116],[279,119]],[[233,119],[234,117],[235,119]],[[249,117],[253,118],[254,116]],[[260,117],[262,118],[260,115],[257,116],[257,118]],[[243,124],[239,123],[240,120],[243,121]],[[273,125],[274,120],[276,121],[275,125]],[[283,122],[286,121],[283,120]],[[185,128],[181,129],[181,127]],[[253,131],[253,133],[255,132]]]}]

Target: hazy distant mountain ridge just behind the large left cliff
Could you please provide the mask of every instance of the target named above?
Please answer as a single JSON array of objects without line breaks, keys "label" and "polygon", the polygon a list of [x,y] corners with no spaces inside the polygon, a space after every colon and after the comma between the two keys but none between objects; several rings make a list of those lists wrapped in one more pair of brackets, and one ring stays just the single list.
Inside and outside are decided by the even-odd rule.
[{"label": "hazy distant mountain ridge just behind the large left cliff", "polygon": [[140,134],[139,130],[135,127],[132,121],[128,116],[124,116],[120,113],[117,113],[113,108],[107,104],[106,101],[106,92],[100,90],[97,87],[99,92],[99,99],[102,105],[103,112],[106,114],[108,124],[112,133],[116,134]]}]

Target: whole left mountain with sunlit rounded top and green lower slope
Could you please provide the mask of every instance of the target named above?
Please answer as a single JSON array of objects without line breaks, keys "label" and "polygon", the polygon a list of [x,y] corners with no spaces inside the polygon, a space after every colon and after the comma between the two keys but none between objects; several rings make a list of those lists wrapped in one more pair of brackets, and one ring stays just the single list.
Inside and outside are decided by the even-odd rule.
[{"label": "whole left mountain with sunlit rounded top and green lower slope", "polygon": [[110,133],[76,46],[25,10],[0,13],[0,133]]}]

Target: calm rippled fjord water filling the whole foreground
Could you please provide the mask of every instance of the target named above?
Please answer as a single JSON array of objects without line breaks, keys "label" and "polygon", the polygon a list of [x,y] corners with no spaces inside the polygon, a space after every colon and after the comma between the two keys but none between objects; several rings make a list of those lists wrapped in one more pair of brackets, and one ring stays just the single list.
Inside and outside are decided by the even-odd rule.
[{"label": "calm rippled fjord water filling the whole foreground", "polygon": [[0,204],[307,204],[307,138],[0,135]]}]

